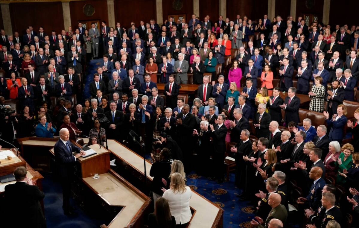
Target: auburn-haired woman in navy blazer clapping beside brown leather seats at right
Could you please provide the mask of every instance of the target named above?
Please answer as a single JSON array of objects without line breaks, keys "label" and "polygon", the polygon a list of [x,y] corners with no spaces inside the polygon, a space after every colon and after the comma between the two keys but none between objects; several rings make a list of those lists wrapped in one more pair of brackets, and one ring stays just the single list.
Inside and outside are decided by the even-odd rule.
[{"label": "auburn-haired woman in navy blazer clapping beside brown leather seats at right", "polygon": [[346,118],[346,107],[344,104],[339,104],[337,107],[337,113],[334,114],[331,119],[329,119],[329,113],[324,111],[324,116],[327,120],[328,127],[331,127],[329,131],[329,139],[330,141],[338,141],[339,144],[341,144],[341,141],[343,140],[343,129],[346,125],[346,122],[348,119]]}]

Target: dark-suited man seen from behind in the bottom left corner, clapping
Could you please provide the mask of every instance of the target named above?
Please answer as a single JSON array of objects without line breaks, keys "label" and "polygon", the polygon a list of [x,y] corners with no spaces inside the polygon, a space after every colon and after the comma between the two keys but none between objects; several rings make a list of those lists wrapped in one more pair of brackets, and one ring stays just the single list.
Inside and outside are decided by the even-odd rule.
[{"label": "dark-suited man seen from behind in the bottom left corner, clapping", "polygon": [[[3,210],[5,226],[14,227],[46,227],[45,217],[40,201],[45,194],[34,185],[27,176],[26,168],[17,167],[14,171],[16,182],[5,186],[4,200],[7,209]],[[19,208],[21,208],[20,211]],[[18,211],[14,213],[14,211]],[[19,219],[19,216],[21,219]],[[8,225],[7,225],[8,224]]]}]

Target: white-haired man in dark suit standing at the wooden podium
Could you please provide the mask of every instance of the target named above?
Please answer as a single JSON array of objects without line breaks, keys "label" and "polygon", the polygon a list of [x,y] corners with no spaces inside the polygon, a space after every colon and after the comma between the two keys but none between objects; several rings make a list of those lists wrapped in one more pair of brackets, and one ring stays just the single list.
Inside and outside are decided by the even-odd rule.
[{"label": "white-haired man in dark suit standing at the wooden podium", "polygon": [[[56,142],[53,150],[55,152],[56,167],[62,185],[62,209],[64,210],[65,215],[76,215],[70,206],[71,182],[74,176],[74,164],[76,158],[85,155],[86,152],[71,143],[69,137],[69,130],[65,128],[61,129],[60,139]],[[73,155],[73,151],[76,152],[75,155]]]}]

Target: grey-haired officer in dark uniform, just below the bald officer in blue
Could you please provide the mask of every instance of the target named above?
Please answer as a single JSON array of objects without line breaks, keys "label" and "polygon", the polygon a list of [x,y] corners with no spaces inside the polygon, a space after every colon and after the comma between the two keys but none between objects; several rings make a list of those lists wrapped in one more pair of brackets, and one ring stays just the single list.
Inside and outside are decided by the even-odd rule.
[{"label": "grey-haired officer in dark uniform, just below the bald officer in blue", "polygon": [[331,192],[322,193],[322,208],[316,214],[312,214],[308,228],[325,228],[330,220],[335,220],[339,224],[342,221],[342,214],[339,206],[335,206],[335,195]]}]

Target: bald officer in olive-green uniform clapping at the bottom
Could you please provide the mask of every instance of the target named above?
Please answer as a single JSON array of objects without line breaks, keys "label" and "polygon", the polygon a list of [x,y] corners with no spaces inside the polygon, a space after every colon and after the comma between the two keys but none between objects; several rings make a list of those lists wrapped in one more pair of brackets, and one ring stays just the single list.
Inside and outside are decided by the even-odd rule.
[{"label": "bald officer in olive-green uniform clapping at the bottom", "polygon": [[268,197],[268,204],[271,206],[272,210],[269,212],[266,220],[264,221],[264,219],[256,216],[254,217],[256,220],[252,219],[251,224],[258,228],[267,228],[272,219],[279,219],[285,224],[288,217],[288,211],[280,201],[281,197],[278,193],[271,193]]}]

